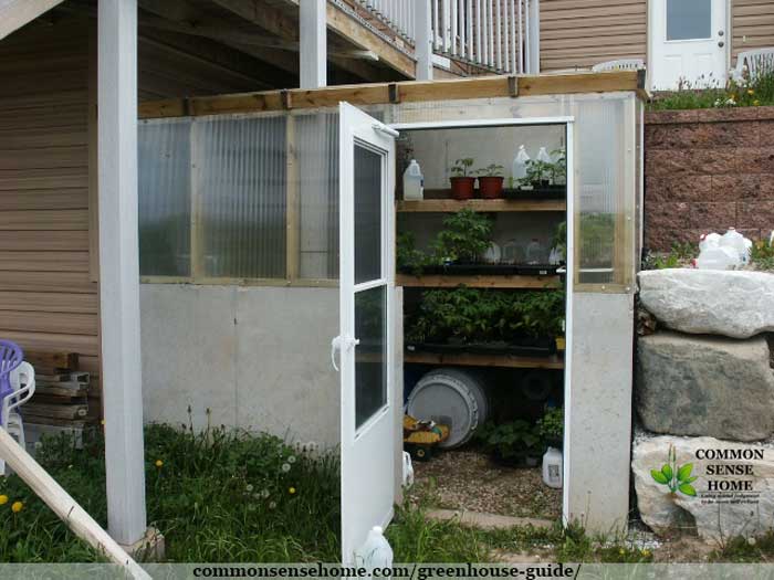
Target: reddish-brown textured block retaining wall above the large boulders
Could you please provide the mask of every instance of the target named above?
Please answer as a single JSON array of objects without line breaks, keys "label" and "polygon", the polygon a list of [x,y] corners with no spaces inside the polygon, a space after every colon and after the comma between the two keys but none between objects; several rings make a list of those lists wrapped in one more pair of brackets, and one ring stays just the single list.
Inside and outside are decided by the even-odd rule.
[{"label": "reddish-brown textured block retaining wall above the large boulders", "polygon": [[774,107],[646,114],[645,245],[774,228]]}]

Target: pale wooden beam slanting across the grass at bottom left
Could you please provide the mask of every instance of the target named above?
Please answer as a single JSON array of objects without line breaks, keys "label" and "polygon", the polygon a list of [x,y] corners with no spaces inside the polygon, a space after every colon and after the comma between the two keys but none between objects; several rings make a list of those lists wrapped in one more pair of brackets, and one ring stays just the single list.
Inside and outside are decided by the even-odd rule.
[{"label": "pale wooden beam slanting across the grass at bottom left", "polygon": [[100,553],[107,556],[112,562],[124,566],[132,578],[150,579],[150,576],[2,428],[0,457],[6,460],[14,473],[73,530],[73,534]]}]

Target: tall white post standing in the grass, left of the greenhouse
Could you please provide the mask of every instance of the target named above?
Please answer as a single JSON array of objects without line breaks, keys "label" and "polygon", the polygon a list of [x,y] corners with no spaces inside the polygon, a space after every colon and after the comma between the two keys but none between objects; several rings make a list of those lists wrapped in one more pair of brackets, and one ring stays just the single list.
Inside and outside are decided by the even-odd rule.
[{"label": "tall white post standing in the grass, left of the greenhouse", "polygon": [[146,532],[137,228],[137,1],[102,0],[98,45],[100,308],[107,525]]}]

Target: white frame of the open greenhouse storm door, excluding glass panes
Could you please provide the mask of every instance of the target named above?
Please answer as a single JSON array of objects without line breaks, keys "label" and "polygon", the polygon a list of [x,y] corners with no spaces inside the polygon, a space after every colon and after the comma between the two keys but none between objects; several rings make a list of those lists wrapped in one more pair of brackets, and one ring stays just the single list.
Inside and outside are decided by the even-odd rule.
[{"label": "white frame of the open greenhouse storm door, excluding glass panes", "polygon": [[[334,349],[341,354],[341,454],[342,454],[342,562],[354,561],[355,550],[370,526],[386,527],[393,518],[395,498],[396,422],[395,392],[395,136],[397,133],[347,103],[339,104],[339,316],[341,334]],[[355,278],[355,146],[381,156],[381,268],[380,277],[357,283]],[[360,426],[355,416],[355,295],[386,288],[385,404]],[[332,354],[333,356],[333,354]],[[364,450],[376,453],[364,453]],[[384,452],[384,453],[383,453]],[[385,463],[381,463],[381,460]],[[372,481],[369,481],[369,477]],[[352,529],[356,528],[356,529]],[[362,529],[363,528],[363,529]]]}]

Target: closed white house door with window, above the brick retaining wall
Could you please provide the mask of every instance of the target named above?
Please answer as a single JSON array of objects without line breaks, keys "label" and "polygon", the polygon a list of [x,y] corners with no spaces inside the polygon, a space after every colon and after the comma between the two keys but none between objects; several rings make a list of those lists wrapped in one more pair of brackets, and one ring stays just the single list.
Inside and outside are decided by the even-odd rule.
[{"label": "closed white house door with window, above the brick retaining wall", "polygon": [[655,91],[723,86],[729,45],[726,0],[650,0],[650,80]]}]

